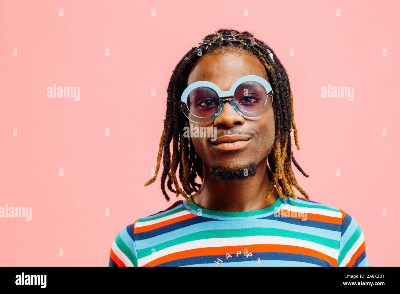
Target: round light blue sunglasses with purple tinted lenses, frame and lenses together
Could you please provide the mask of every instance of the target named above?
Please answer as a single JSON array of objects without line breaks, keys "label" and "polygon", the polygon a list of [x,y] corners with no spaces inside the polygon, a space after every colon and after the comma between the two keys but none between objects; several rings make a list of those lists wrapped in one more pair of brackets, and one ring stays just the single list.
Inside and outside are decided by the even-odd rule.
[{"label": "round light blue sunglasses with purple tinted lenses, frame and lenses together", "polygon": [[264,114],[271,106],[272,87],[259,76],[243,76],[228,91],[221,91],[212,82],[198,81],[190,84],[182,93],[180,102],[183,113],[197,123],[215,120],[225,101],[245,118]]}]

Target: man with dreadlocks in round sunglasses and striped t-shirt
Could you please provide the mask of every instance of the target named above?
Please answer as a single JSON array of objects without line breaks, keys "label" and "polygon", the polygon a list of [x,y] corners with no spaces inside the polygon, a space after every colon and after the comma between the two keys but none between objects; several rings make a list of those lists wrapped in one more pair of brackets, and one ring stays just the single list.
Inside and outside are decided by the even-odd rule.
[{"label": "man with dreadlocks in round sunglasses and striped t-shirt", "polygon": [[[108,266],[369,266],[356,220],[310,201],[294,177],[291,162],[308,175],[292,156],[293,97],[271,48],[219,30],[182,58],[167,92],[156,173],[145,185],[163,160],[165,198],[167,181],[185,200],[123,228]],[[216,140],[188,138],[185,127],[216,130]]]}]

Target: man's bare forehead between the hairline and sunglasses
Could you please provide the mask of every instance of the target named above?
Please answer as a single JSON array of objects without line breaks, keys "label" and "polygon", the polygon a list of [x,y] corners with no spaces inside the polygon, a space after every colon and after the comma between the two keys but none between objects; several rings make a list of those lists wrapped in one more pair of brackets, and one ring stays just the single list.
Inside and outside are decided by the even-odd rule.
[{"label": "man's bare forehead between the hairline and sunglasses", "polygon": [[188,85],[197,81],[216,84],[222,91],[228,91],[242,76],[260,76],[268,80],[265,68],[253,54],[242,51],[206,54],[194,64],[188,77]]}]

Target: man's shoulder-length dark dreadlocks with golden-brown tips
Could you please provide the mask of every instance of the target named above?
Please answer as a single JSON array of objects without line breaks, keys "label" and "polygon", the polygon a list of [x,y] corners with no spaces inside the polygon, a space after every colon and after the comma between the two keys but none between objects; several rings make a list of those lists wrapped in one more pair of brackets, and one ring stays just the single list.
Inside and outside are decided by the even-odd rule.
[{"label": "man's shoulder-length dark dreadlocks with golden-brown tips", "polygon": [[[254,37],[247,31],[240,33],[236,30],[218,30],[218,33],[222,35],[228,35],[231,32],[241,34],[247,38]],[[216,34],[210,34],[204,39],[210,40],[216,36]],[[248,44],[250,40],[245,39],[243,42]],[[274,186],[276,186],[280,198],[286,200],[289,196],[296,200],[297,196],[294,192],[294,186],[305,196],[306,200],[310,200],[308,194],[299,186],[292,170],[291,163],[293,162],[294,166],[304,176],[309,177],[300,168],[292,154],[291,131],[293,131],[294,142],[298,150],[300,150],[300,146],[298,144],[296,123],[294,122],[293,95],[290,90],[288,75],[274,51],[261,40],[256,39],[256,42],[257,44],[254,44],[254,46],[248,46],[250,44],[245,45],[241,42],[222,40],[221,42],[215,42],[212,46],[208,45],[205,54],[210,52],[227,52],[232,49],[246,50],[254,54],[262,62],[274,92],[275,104],[275,141],[267,160],[269,165],[269,167],[267,165],[267,174],[270,184],[264,198],[267,201],[270,200]],[[273,55],[273,60],[269,58],[270,53]],[[157,155],[157,166],[154,177],[144,184],[144,186],[148,186],[156,180],[162,160],[164,168],[161,175],[161,190],[167,201],[170,200],[170,197],[166,193],[165,182],[167,182],[168,190],[174,192],[176,197],[181,194],[192,204],[193,202],[188,194],[197,192],[201,187],[201,184],[195,182],[196,176],[199,176],[201,180],[204,177],[202,160],[196,153],[196,150],[194,150],[192,140],[183,136],[184,123],[187,118],[184,116],[180,105],[180,96],[187,86],[189,72],[202,55],[204,56],[204,54],[200,54],[199,56],[197,48],[193,47],[182,57],[172,72],[167,89],[167,108],[164,119],[164,130],[162,131]],[[171,141],[172,159],[170,151]],[[176,178],[178,165],[179,180],[182,188]],[[172,184],[174,184],[174,188],[172,188]]]}]

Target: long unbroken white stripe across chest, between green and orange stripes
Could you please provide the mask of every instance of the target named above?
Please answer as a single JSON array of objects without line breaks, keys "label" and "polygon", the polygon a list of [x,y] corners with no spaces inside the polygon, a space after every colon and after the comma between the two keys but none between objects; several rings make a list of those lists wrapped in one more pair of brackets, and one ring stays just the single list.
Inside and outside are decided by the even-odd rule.
[{"label": "long unbroken white stripe across chest, between green and orange stripes", "polygon": [[[330,257],[337,259],[338,250],[330,248],[318,243],[311,241],[301,240],[297,238],[280,237],[280,236],[246,236],[246,237],[233,237],[233,238],[212,238],[212,239],[202,239],[194,240],[186,243],[177,244],[160,251],[144,256],[138,259],[138,265],[143,266],[152,260],[166,256],[171,253],[198,249],[204,247],[224,247],[224,246],[250,246],[252,244],[265,244],[266,252],[268,252],[268,244],[279,244],[279,245],[292,245],[304,248],[314,249],[318,252],[322,252]],[[246,248],[246,247],[244,247]],[[244,249],[243,248],[243,249]]]}]

